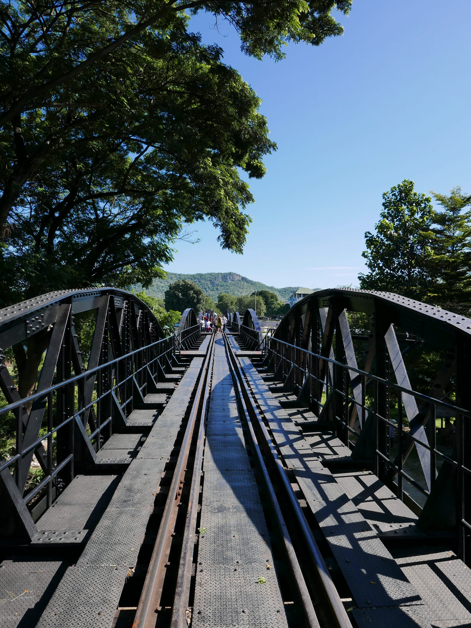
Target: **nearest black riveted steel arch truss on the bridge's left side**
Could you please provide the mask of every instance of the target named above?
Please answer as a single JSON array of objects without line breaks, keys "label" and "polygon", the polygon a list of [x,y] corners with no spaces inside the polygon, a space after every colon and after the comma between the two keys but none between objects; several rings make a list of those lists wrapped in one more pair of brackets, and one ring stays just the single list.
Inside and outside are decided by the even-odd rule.
[{"label": "nearest black riveted steel arch truss on the bridge's left side", "polygon": [[[92,310],[95,327],[85,367],[75,315]],[[186,322],[183,345],[192,333]],[[21,399],[4,352],[38,333],[48,340],[43,365],[34,393]],[[0,420],[13,413],[16,425],[16,451],[0,462],[4,538],[33,538],[34,519],[83,465],[93,465],[97,451],[127,425],[146,394],[157,392],[156,382],[176,364],[178,344],[145,303],[114,288],[58,291],[0,310],[0,388],[7,403]],[[33,455],[44,479],[25,491]]]}]

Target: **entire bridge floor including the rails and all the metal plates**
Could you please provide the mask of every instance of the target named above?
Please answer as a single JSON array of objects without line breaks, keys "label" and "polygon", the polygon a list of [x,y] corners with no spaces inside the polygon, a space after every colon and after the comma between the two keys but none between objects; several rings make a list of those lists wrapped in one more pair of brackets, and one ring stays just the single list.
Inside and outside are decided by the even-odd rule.
[{"label": "entire bridge floor including the rails and all the metal plates", "polygon": [[239,342],[182,350],[32,541],[3,544],[0,628],[430,628],[432,612],[467,614],[458,597],[433,609],[451,589],[423,578],[433,566],[465,587],[449,538],[378,532],[413,515],[335,435],[298,425],[299,402]]}]

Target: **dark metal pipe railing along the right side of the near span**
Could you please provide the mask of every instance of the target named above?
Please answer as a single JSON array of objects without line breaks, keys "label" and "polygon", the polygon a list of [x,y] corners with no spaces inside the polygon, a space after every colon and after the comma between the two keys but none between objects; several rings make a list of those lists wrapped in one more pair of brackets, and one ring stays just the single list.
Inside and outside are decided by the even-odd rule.
[{"label": "dark metal pipe railing along the right side of the near span", "polygon": [[[398,384],[394,384],[394,382],[381,379],[366,371],[348,367],[346,364],[342,364],[336,360],[322,357],[322,355],[300,349],[300,347],[289,345],[287,342],[278,340],[278,338],[267,336],[264,339],[264,344],[268,361],[273,363],[273,368],[278,378],[284,380],[286,384],[288,384],[287,380],[289,379],[291,379],[292,382],[297,382],[299,396],[301,398],[303,396],[309,398],[309,401],[317,408],[319,427],[325,428],[325,426],[329,426],[330,423],[331,426],[336,429],[337,436],[340,436],[347,446],[351,446],[354,452],[356,445],[353,445],[351,441],[349,441],[349,433],[357,438],[359,431],[351,427],[349,410],[352,404],[356,406],[361,427],[364,428],[367,421],[373,426],[373,441],[376,443],[376,447],[374,447],[373,451],[374,471],[376,475],[384,475],[384,472],[383,474],[380,473],[380,467],[383,463],[386,463],[386,467],[393,469],[396,474],[398,474],[398,497],[400,497],[400,499],[404,498],[403,479],[408,480],[410,484],[420,490],[426,497],[428,497],[431,492],[403,469],[404,456],[406,453],[405,442],[408,439],[418,443],[421,448],[428,452],[430,468],[429,481],[431,487],[433,487],[437,479],[437,457],[442,460],[442,463],[446,461],[457,468],[460,473],[471,475],[471,470],[465,467],[462,455],[460,455],[462,454],[462,449],[458,450],[458,458],[454,460],[452,457],[437,450],[437,443],[434,437],[437,408],[443,409],[457,418],[457,435],[461,433],[463,429],[463,420],[471,419],[470,411],[439,401],[438,399],[433,399],[425,394],[417,393],[410,388],[399,386]],[[304,359],[301,360],[301,357]],[[302,362],[302,366],[300,362]],[[332,369],[332,379],[330,377],[320,379],[319,376],[316,375],[321,371],[320,364],[322,362],[327,362],[334,367],[334,369]],[[357,394],[356,396],[352,396],[352,393],[349,391],[349,386],[346,383],[348,382],[347,377],[352,373],[355,374],[355,379],[357,379],[360,387],[359,396]],[[371,391],[369,392],[368,404],[366,401],[367,385],[369,391]],[[317,391],[317,394],[312,394],[314,391]],[[391,391],[396,391],[396,396],[391,395]],[[396,409],[397,403],[398,421],[394,423],[385,416],[381,416],[378,412],[379,399],[384,396],[386,392],[388,392],[389,399],[394,398],[394,402],[391,401],[388,409]],[[420,440],[420,438],[411,435],[410,431],[404,430],[403,404],[408,403],[410,398],[414,398],[420,403],[426,404],[427,412],[430,415],[430,445]],[[391,460],[391,458],[384,453],[385,450],[388,450],[386,441],[391,440],[393,433],[393,438],[395,438],[396,433],[398,435],[398,463]],[[359,443],[359,448],[362,448],[362,444],[363,443]],[[366,452],[366,450],[362,448],[361,453],[363,459],[366,460],[370,452]],[[359,458],[359,455],[356,455],[354,458]],[[441,466],[442,465],[440,465],[440,467]],[[462,521],[462,524],[471,529],[470,523]]]}]

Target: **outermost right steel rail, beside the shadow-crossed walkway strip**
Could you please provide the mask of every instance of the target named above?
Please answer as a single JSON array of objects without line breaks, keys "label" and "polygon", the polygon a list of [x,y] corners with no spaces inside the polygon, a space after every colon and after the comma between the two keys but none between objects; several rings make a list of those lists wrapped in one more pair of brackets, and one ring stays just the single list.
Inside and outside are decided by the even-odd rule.
[{"label": "outermost right steel rail, beside the shadow-crossed walkway strip", "polygon": [[292,506],[292,514],[294,514],[297,524],[299,525],[302,540],[304,541],[305,548],[307,549],[307,554],[309,555],[310,561],[314,566],[320,588],[322,589],[322,593],[324,593],[324,600],[326,602],[329,615],[331,615],[331,619],[333,622],[332,625],[335,625],[336,628],[352,628],[352,624],[349,620],[346,610],[344,609],[344,605],[342,604],[339,593],[337,592],[334,582],[332,581],[329,570],[327,570],[327,565],[325,565],[324,558],[322,558],[319,547],[315,542],[312,530],[310,529],[309,524],[306,521],[304,512],[302,512],[299,501],[295,495],[294,490],[292,489],[292,485],[290,480],[288,479],[288,475],[285,467],[283,466],[283,462],[278,456],[272,439],[268,434],[268,430],[263,423],[262,416],[260,416],[257,406],[253,401],[250,388],[245,381],[240,363],[232,347],[230,347],[230,352],[231,355],[233,355],[236,376],[241,384],[241,391],[243,393],[246,406],[250,410],[250,413],[255,420],[255,424],[258,426],[258,430],[263,436],[265,444],[272,453],[273,462],[275,462],[275,468],[277,469],[278,477],[281,480],[284,493],[288,499],[288,502]]}]

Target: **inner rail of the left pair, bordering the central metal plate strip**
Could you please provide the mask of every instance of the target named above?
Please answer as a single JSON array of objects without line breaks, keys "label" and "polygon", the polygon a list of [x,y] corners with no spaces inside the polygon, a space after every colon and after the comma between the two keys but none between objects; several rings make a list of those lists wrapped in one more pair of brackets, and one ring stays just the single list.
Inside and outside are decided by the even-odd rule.
[{"label": "inner rail of the left pair, bordering the central metal plate strip", "polygon": [[[209,341],[210,364],[213,363],[214,334]],[[209,373],[209,369],[208,369]],[[198,430],[198,441],[194,454],[193,476],[188,495],[188,507],[186,511],[183,543],[180,553],[177,583],[172,608],[171,628],[188,628],[186,609],[188,609],[189,592],[191,585],[191,573],[193,569],[193,550],[195,541],[196,519],[198,517],[199,486],[201,484],[201,467],[203,466],[204,435],[206,433],[206,409],[209,400],[209,377],[204,387],[203,403],[201,404],[201,420]]]}]

